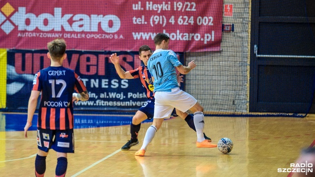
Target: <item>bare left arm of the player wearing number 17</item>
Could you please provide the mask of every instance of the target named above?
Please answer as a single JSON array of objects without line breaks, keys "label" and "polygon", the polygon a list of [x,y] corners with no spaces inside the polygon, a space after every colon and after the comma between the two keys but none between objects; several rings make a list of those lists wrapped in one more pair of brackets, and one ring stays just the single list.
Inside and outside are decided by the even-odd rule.
[{"label": "bare left arm of the player wearing number 17", "polygon": [[40,91],[32,90],[31,96],[29,99],[29,105],[28,105],[28,119],[26,122],[26,125],[24,127],[24,137],[28,137],[28,130],[32,126],[32,120],[34,116],[34,112],[36,110],[36,105],[37,105],[37,99],[39,96]]}]

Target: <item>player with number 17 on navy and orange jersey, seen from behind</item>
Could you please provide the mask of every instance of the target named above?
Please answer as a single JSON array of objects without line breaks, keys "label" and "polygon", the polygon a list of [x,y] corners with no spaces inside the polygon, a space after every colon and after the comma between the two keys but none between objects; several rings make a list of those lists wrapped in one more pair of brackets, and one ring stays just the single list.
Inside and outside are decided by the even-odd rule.
[{"label": "player with number 17 on navy and orange jersey, seen from behind", "polygon": [[[57,151],[56,177],[64,177],[67,169],[67,153],[74,153],[73,101],[86,101],[89,94],[80,77],[63,67],[66,59],[65,41],[55,39],[47,44],[49,67],[38,71],[33,79],[33,89],[28,105],[28,119],[24,136],[32,125],[32,118],[41,92],[37,119],[37,156],[35,176],[43,177],[46,156],[50,148]],[[73,91],[78,93],[73,93]]]}]

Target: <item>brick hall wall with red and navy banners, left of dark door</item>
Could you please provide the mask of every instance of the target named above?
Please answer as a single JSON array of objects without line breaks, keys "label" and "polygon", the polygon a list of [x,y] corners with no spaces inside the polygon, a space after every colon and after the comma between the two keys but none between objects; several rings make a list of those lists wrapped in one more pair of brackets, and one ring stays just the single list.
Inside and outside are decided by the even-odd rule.
[{"label": "brick hall wall with red and navy banners, left of dark door", "polygon": [[[4,0],[0,1],[0,108],[26,111],[32,78],[49,66],[47,42],[67,43],[65,67],[74,69],[90,91],[75,110],[135,111],[145,90],[122,80],[108,59],[118,53],[125,70],[137,68],[138,48],[158,32],[170,36],[169,49],[187,65],[182,89],[206,114],[249,110],[250,2],[248,0]],[[42,8],[45,7],[45,8]]]}]

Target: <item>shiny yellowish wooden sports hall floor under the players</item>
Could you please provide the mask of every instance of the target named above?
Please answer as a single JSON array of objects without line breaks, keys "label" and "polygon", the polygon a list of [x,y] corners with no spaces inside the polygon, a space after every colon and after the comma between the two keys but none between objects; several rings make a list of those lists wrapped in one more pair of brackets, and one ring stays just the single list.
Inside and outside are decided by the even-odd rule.
[{"label": "shiny yellowish wooden sports hall floor under the players", "polygon": [[[119,117],[118,117],[119,119]],[[196,148],[196,134],[181,118],[165,120],[146,156],[135,157],[147,128],[142,123],[140,146],[121,151],[129,125],[75,129],[75,153],[68,154],[67,177],[287,177],[302,148],[314,146],[315,118],[206,117],[206,135],[217,143],[230,138],[234,148]],[[24,124],[24,123],[23,123]],[[23,125],[24,126],[24,125]],[[0,132],[0,176],[33,177],[36,131]],[[46,159],[46,177],[55,175],[56,152]],[[293,177],[296,174],[290,174]]]}]

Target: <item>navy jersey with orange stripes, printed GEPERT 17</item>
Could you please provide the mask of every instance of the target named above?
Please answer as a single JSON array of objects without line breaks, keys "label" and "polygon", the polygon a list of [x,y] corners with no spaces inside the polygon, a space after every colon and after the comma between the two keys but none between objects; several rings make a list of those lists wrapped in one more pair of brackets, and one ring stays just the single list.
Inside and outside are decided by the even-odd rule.
[{"label": "navy jersey with orange stripes, printed GEPERT 17", "polygon": [[87,90],[80,76],[63,66],[49,66],[35,74],[32,90],[41,91],[38,128],[73,129],[72,93]]}]

